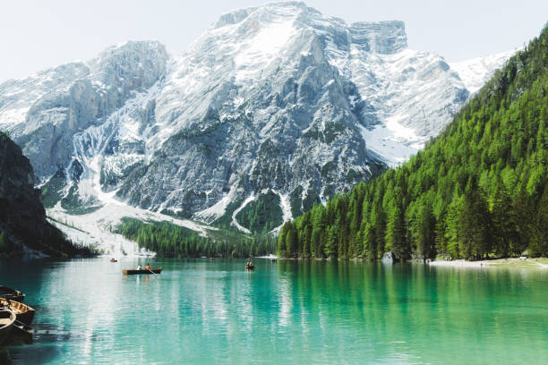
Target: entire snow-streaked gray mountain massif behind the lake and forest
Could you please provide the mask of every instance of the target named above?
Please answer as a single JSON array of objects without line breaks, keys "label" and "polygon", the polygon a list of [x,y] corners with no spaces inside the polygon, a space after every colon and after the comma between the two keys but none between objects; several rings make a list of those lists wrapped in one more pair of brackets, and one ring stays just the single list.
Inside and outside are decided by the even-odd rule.
[{"label": "entire snow-streaked gray mountain massif behind the lake and forest", "polygon": [[69,211],[116,200],[246,230],[253,201],[287,219],[406,160],[504,60],[459,68],[463,82],[409,49],[401,21],[265,4],[222,15],[183,55],[128,42],[6,81],[0,129]]}]

